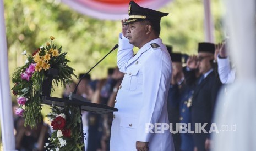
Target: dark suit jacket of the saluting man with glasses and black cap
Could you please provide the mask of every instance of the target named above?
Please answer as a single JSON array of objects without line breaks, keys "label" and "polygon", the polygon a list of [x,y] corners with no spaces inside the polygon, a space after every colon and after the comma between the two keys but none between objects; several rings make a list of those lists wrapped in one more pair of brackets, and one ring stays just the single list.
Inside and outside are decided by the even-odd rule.
[{"label": "dark suit jacket of the saluting man with glasses and black cap", "polygon": [[[200,84],[197,84],[198,79],[195,78],[194,71],[186,71],[185,78],[187,84],[194,89],[192,98],[192,130],[194,130],[193,126],[195,123],[201,123],[201,125],[208,123],[205,126],[205,130],[209,132],[217,94],[221,86],[220,79],[214,71],[208,74]],[[209,135],[202,132],[194,136],[195,146],[199,150],[203,150],[204,142],[206,138],[209,138]]]}]

